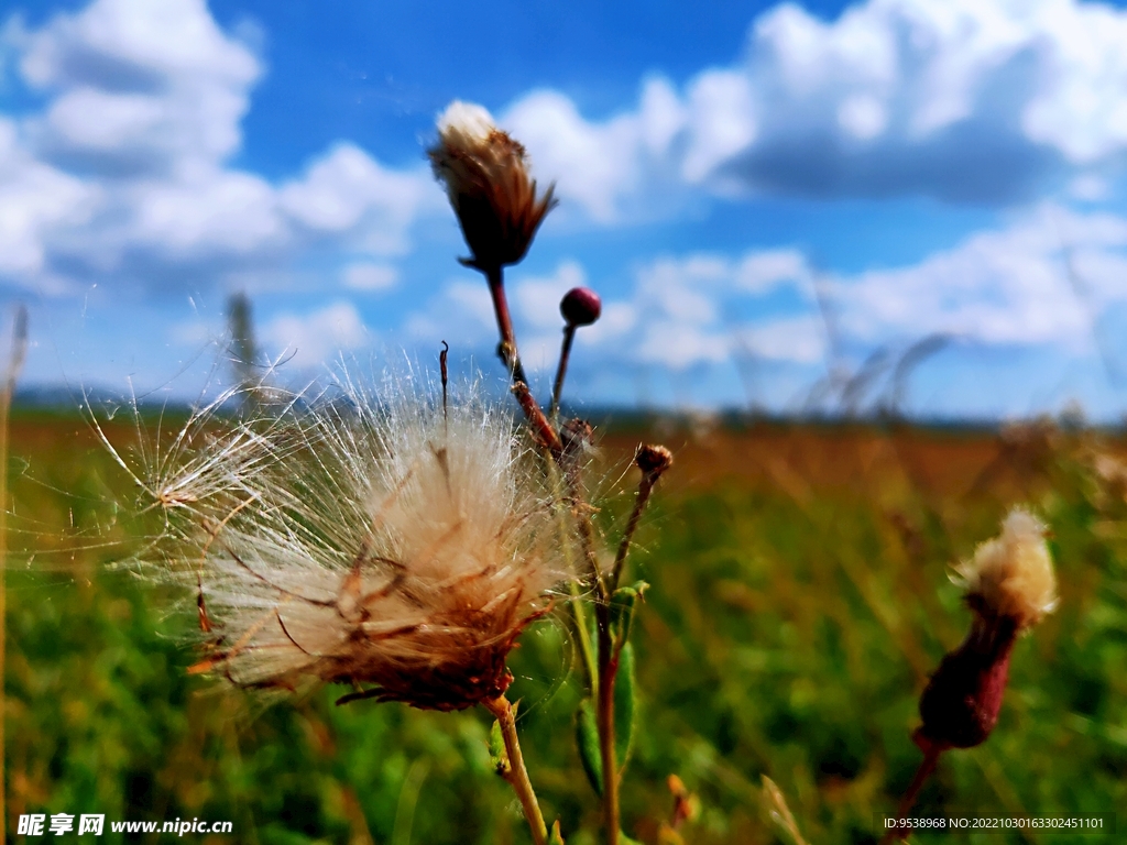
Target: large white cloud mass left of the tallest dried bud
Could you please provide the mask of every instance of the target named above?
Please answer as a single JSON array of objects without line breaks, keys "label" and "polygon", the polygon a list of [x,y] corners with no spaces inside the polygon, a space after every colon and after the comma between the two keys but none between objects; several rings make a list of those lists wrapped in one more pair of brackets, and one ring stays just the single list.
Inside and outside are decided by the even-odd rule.
[{"label": "large white cloud mass left of the tallest dried bud", "polygon": [[232,167],[263,64],[203,0],[95,0],[34,32],[14,18],[5,34],[23,82],[46,98],[0,118],[9,282],[208,285],[318,243],[385,258],[440,207],[425,168],[396,171],[350,143],[279,185]]}]

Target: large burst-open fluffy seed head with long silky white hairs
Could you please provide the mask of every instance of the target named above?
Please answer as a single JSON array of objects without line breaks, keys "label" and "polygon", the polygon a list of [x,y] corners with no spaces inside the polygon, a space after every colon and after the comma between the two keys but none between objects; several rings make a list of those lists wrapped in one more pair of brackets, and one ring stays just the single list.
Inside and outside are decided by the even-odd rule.
[{"label": "large burst-open fluffy seed head with long silky white hairs", "polygon": [[508,413],[472,395],[444,409],[353,389],[295,398],[208,448],[159,486],[180,492],[165,566],[198,589],[195,670],[268,688],[345,683],[356,692],[341,701],[433,710],[505,691],[509,650],[565,578]]}]

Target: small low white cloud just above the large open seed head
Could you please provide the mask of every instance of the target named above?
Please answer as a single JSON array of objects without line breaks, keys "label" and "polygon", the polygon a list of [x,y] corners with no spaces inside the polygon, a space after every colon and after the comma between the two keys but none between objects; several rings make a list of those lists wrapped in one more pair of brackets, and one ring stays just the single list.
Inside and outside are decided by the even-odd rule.
[{"label": "small low white cloud just above the large open seed head", "polygon": [[309,314],[279,314],[263,327],[261,336],[272,357],[281,355],[287,367],[296,370],[320,366],[371,340],[360,313],[348,302],[335,302]]}]

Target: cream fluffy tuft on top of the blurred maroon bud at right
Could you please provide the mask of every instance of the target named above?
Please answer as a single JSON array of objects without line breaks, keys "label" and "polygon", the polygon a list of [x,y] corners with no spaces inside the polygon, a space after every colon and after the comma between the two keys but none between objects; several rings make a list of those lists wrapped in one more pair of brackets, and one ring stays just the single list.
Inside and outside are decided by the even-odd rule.
[{"label": "cream fluffy tuft on top of the blurred maroon bud at right", "polygon": [[1019,631],[1040,622],[1057,605],[1045,532],[1036,516],[1013,508],[1002,522],[1002,533],[956,568],[967,598],[994,616],[1012,619]]}]

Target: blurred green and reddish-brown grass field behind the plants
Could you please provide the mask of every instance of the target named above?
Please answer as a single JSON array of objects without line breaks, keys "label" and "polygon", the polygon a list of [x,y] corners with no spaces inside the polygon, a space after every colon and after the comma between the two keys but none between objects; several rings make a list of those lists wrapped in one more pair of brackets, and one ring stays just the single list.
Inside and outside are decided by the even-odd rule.
[{"label": "blurred green and reddish-brown grass field behind the plants", "polygon": [[[1125,806],[1120,444],[1048,427],[659,428],[603,443],[612,493],[640,439],[659,437],[677,456],[633,563],[653,587],[635,637],[641,730],[623,785],[628,833],[656,840],[676,773],[701,806],[686,842],[789,842],[762,800],[769,775],[809,843],[876,842],[878,816],[893,812],[921,757],[909,738],[919,694],[968,622],[949,566],[1022,502],[1051,527],[1061,606],[1018,643],[994,735],[946,755],[920,809]],[[108,430],[130,437],[125,425]],[[19,813],[97,812],[233,822],[233,835],[186,837],[205,842],[529,840],[490,768],[481,711],[336,708],[335,690],[269,704],[187,675],[196,656],[178,638],[195,624],[193,597],[110,566],[144,542],[128,479],[77,418],[17,415],[11,437],[9,835]],[[612,495],[601,515],[612,540],[627,504]],[[509,696],[522,699],[545,815],[562,819],[569,844],[594,843],[562,631],[549,619],[524,635]],[[1073,838],[1116,839],[1012,836]]]}]

